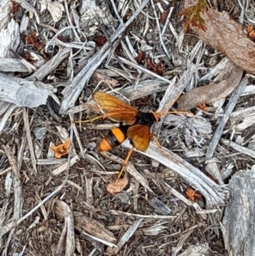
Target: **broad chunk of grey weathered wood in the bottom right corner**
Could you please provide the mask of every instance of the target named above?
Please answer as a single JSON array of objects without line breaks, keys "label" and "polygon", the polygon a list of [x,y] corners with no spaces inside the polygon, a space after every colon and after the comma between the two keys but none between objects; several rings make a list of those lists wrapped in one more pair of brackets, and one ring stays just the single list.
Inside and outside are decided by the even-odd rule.
[{"label": "broad chunk of grey weathered wood in the bottom right corner", "polygon": [[254,256],[255,166],[237,172],[230,180],[230,202],[226,206],[222,233],[228,255]]}]

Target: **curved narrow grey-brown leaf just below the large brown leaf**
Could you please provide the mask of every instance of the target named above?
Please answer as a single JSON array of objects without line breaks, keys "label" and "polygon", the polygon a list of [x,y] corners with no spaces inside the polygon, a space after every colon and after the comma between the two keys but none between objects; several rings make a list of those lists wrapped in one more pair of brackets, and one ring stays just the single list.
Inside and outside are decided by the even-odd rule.
[{"label": "curved narrow grey-brown leaf just below the large brown leaf", "polygon": [[238,86],[242,79],[243,70],[229,61],[226,68],[208,86],[195,88],[180,96],[177,110],[190,110],[199,104],[215,102],[228,96]]}]

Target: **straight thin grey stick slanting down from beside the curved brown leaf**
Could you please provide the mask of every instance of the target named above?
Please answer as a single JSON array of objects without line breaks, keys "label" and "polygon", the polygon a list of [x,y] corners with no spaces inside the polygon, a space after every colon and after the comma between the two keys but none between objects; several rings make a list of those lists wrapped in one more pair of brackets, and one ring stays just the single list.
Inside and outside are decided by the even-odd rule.
[{"label": "straight thin grey stick slanting down from beside the curved brown leaf", "polygon": [[244,77],[244,79],[242,79],[237,89],[235,89],[235,91],[233,92],[230,98],[230,101],[228,102],[228,105],[226,105],[225,115],[221,118],[221,121],[219,122],[219,125],[214,133],[214,137],[212,137],[210,145],[208,146],[207,158],[212,158],[212,156],[214,155],[214,151],[217,147],[219,140],[221,139],[221,135],[224,130],[224,127],[226,126],[226,123],[228,122],[228,119],[230,118],[230,115],[233,112],[235,105],[237,104],[238,98],[243,93],[247,84],[248,84],[248,79],[247,77]]}]

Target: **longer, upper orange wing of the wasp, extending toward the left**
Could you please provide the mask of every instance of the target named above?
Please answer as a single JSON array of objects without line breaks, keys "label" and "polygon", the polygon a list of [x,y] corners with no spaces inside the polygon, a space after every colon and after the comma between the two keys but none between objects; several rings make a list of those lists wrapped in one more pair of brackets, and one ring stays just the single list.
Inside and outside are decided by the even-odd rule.
[{"label": "longer, upper orange wing of the wasp, extending toward the left", "polygon": [[108,118],[129,125],[135,123],[138,110],[134,109],[130,105],[101,91],[94,93],[93,98]]}]

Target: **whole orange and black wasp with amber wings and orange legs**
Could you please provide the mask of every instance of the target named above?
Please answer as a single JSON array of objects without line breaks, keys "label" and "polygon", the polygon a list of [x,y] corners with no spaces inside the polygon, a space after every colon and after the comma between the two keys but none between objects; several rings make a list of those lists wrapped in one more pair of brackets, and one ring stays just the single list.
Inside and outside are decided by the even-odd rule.
[{"label": "whole orange and black wasp with amber wings and orange legs", "polygon": [[142,112],[140,110],[134,109],[127,103],[122,102],[122,100],[119,100],[115,96],[103,93],[102,91],[97,91],[92,95],[92,97],[105,114],[103,114],[103,116],[95,117],[91,120],[77,121],[75,123],[87,123],[100,118],[105,119],[106,117],[120,123],[119,127],[112,128],[112,130],[110,130],[110,132],[103,138],[103,140],[101,140],[98,151],[109,151],[110,149],[113,149],[113,147],[117,147],[122,144],[122,142],[124,142],[124,140],[127,138],[130,140],[133,146],[131,149],[129,149],[126,160],[124,163],[122,163],[122,169],[117,176],[117,183],[119,178],[122,176],[122,173],[131,157],[134,148],[138,149],[139,151],[145,151],[149,147],[150,138],[152,137],[160,147],[156,137],[150,133],[150,127],[152,124],[160,121],[162,113]]}]

